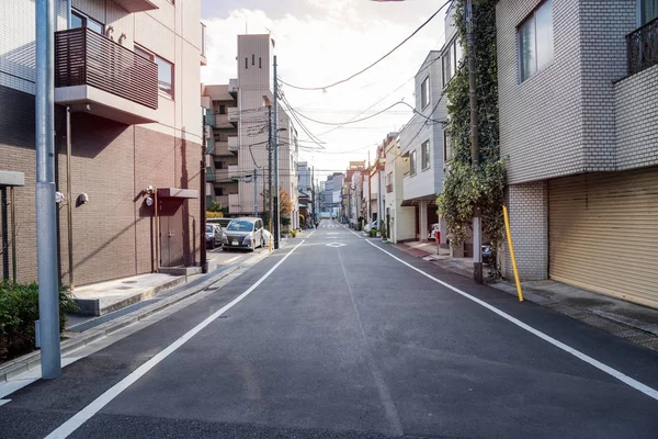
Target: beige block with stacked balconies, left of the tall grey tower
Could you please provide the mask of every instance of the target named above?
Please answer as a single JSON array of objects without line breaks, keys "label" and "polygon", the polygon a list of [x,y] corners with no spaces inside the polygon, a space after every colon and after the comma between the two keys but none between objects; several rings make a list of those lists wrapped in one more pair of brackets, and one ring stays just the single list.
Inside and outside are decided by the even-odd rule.
[{"label": "beige block with stacked balconies, left of the tall grey tower", "polygon": [[227,85],[202,86],[202,105],[206,111],[206,205],[222,204],[228,213],[228,198],[238,193],[238,182],[229,178],[229,169],[238,166],[238,87],[237,80]]}]

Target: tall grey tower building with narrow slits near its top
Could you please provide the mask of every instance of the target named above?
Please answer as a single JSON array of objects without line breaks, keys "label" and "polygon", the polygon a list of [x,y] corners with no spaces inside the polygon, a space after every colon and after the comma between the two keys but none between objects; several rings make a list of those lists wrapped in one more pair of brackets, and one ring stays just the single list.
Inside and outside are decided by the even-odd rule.
[{"label": "tall grey tower building with narrow slits near its top", "polygon": [[[270,35],[238,35],[236,59],[238,78],[229,81],[228,91],[232,93],[237,109],[227,106],[227,122],[236,124],[237,120],[237,131],[227,134],[226,146],[237,161],[235,158],[226,161],[226,175],[237,184],[237,191],[232,185],[227,194],[228,215],[252,215],[254,212],[261,215],[270,210],[270,154],[273,153],[269,147],[270,130],[274,125],[273,43]],[[297,131],[282,105],[277,108],[277,119],[279,185],[292,201],[291,226],[296,228],[299,217]],[[217,171],[216,167],[214,169]],[[220,173],[224,176],[224,171]]]}]

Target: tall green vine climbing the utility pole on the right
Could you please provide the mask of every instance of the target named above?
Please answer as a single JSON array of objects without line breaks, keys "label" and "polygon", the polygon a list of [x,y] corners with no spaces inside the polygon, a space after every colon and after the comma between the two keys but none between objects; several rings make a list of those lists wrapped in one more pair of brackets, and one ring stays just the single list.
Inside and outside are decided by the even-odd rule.
[{"label": "tall green vine climbing the utility pole on the right", "polygon": [[[465,0],[455,0],[457,37],[466,54]],[[473,224],[474,206],[479,205],[483,233],[498,248],[503,235],[502,218],[504,164],[500,157],[498,132],[498,68],[496,48],[496,0],[473,1],[473,31],[476,54],[476,95],[479,114],[479,161],[470,166],[470,101],[468,64],[464,57],[446,88],[453,160],[438,198],[439,214],[445,219],[452,245],[463,244]],[[496,259],[494,259],[496,260]],[[498,267],[490,275],[498,277]]]}]

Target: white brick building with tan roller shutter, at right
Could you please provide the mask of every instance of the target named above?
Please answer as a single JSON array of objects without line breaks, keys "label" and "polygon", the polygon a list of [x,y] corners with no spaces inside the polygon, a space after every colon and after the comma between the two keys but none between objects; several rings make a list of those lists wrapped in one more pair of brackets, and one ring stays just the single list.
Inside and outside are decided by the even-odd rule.
[{"label": "white brick building with tan roller shutter, at right", "polygon": [[658,1],[500,0],[496,12],[521,278],[657,307]]}]

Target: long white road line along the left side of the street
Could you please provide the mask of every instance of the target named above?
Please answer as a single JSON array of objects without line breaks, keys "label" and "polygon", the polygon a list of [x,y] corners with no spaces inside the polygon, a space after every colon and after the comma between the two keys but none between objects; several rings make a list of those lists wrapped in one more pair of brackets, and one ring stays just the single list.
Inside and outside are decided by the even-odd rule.
[{"label": "long white road line along the left side of the street", "polygon": [[292,254],[304,244],[304,239],[297,244],[286,256],[284,256],[274,267],[270,269],[262,278],[260,278],[253,285],[249,288],[249,290],[245,291],[242,294],[234,299],[230,303],[225,305],[222,309],[217,311],[215,314],[207,317],[205,320],[196,325],[194,328],[190,329],[185,333],[181,338],[169,345],[167,348],[162,349],[158,352],[154,358],[148,360],[146,363],[141,364],[129,375],[121,380],[118,383],[114,384],[110,390],[103,393],[101,396],[95,398],[91,404],[87,407],[82,408],[76,415],[73,415],[69,420],[60,425],[57,429],[46,436],[46,439],[64,439],[67,438],[70,434],[80,428],[86,421],[88,421],[93,415],[99,413],[103,407],[112,402],[115,397],[117,397],[123,391],[128,389],[132,384],[134,384],[137,380],[144,376],[148,371],[154,369],[158,363],[169,357],[171,353],[175,352],[181,346],[188,342],[192,337],[198,334],[206,326],[212,324],[217,317],[222,314],[226,313],[228,309],[237,305],[242,299],[247,297],[253,290],[256,290],[265,279],[270,277],[281,266]]}]

